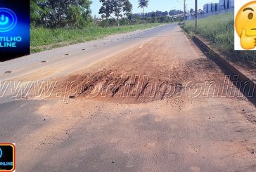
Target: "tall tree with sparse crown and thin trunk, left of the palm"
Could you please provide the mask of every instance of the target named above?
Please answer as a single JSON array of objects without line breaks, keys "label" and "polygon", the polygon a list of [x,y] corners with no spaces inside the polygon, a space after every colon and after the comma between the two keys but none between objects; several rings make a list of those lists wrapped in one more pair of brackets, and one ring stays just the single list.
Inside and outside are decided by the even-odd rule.
[{"label": "tall tree with sparse crown and thin trunk, left of the palm", "polygon": [[100,0],[102,6],[99,10],[99,14],[101,14],[102,18],[110,18],[111,14],[115,15],[117,20],[117,25],[120,25],[119,18],[122,17],[122,13],[124,15],[129,15],[132,11],[132,4],[129,0]]}]

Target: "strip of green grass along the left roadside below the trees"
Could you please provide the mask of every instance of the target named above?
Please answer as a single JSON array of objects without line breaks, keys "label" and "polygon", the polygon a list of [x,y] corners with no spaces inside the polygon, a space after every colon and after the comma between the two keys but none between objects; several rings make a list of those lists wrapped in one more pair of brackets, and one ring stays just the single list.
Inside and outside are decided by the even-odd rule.
[{"label": "strip of green grass along the left roadside below the trees", "polygon": [[52,48],[77,44],[107,37],[110,34],[132,32],[136,29],[157,27],[160,23],[145,25],[126,25],[120,27],[85,27],[84,29],[47,29],[35,27],[31,29],[31,51],[32,53],[49,50]]}]

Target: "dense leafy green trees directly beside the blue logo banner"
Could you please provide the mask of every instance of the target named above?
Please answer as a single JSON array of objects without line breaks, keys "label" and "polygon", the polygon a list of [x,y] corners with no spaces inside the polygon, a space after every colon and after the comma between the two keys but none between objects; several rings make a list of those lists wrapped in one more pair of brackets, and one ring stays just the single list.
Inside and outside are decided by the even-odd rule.
[{"label": "dense leafy green trees directly beside the blue logo banner", "polygon": [[43,27],[86,27],[92,23],[90,0],[30,0],[30,21]]}]

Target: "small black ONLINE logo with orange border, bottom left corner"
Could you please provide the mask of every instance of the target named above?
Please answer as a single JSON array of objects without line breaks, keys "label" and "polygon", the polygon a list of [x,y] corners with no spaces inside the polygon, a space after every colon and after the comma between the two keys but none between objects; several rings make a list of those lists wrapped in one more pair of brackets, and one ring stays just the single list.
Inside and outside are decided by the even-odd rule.
[{"label": "small black ONLINE logo with orange border, bottom left corner", "polygon": [[15,171],[15,145],[0,143],[0,172]]}]

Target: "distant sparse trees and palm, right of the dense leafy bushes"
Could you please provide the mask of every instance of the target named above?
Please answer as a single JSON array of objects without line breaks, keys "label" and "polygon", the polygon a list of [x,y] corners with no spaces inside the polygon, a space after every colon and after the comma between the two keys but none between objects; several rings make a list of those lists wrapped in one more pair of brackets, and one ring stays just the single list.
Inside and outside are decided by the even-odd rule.
[{"label": "distant sparse trees and palm, right of the dense leafy bushes", "polygon": [[148,7],[148,0],[138,0],[138,8],[142,8],[142,13],[132,13],[132,4],[129,0],[99,0],[102,4],[99,14],[101,19],[94,19],[97,25],[108,27],[113,25],[133,25],[144,22],[173,22],[181,18],[169,15],[177,15],[182,11],[153,11],[144,13],[144,8]]}]

